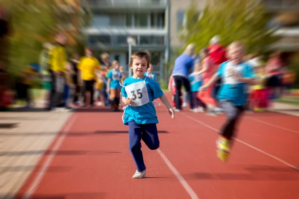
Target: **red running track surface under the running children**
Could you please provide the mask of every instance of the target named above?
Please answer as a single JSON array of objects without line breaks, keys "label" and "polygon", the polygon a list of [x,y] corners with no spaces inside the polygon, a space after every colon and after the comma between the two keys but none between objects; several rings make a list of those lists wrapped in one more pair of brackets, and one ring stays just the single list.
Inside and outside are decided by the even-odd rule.
[{"label": "red running track surface under the running children", "polygon": [[[31,199],[191,198],[159,153],[145,144],[142,149],[149,178],[132,179],[136,167],[128,149],[128,127],[122,123],[122,113],[98,110],[84,108],[71,116],[72,123],[62,129],[16,198],[34,185]],[[162,106],[157,114],[160,150],[198,199],[299,198],[299,171],[274,158],[299,166],[298,117],[269,112],[246,114],[238,139],[268,155],[235,142],[230,161],[223,163],[215,152],[217,132],[210,127],[219,129],[224,116],[186,110],[176,113],[172,120]],[[58,142],[61,145],[49,161]],[[48,167],[42,175],[44,165]]]}]

